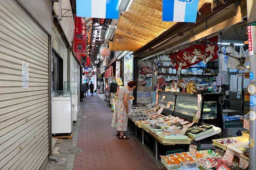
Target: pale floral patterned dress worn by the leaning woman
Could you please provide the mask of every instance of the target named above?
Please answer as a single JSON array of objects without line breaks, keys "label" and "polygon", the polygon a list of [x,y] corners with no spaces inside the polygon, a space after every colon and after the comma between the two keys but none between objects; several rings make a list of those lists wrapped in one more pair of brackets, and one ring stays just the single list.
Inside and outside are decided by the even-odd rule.
[{"label": "pale floral patterned dress worn by the leaning woman", "polygon": [[[118,99],[115,105],[115,110],[112,118],[111,127],[117,127],[118,131],[127,131],[128,114],[126,113],[124,102],[123,102],[125,94],[130,94],[129,89],[126,86],[120,88],[119,90]],[[129,108],[128,109],[128,113],[129,113],[131,111],[131,106],[129,102],[128,102],[128,108]]]}]

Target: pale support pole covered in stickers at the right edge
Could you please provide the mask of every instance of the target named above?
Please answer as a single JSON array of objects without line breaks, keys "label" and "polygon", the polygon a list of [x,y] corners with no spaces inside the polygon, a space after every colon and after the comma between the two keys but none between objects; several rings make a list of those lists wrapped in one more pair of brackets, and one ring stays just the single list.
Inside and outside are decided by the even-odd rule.
[{"label": "pale support pole covered in stickers at the right edge", "polygon": [[[255,3],[255,2],[254,2]],[[253,4],[253,0],[247,0],[247,18],[249,18],[251,7]],[[251,42],[252,42],[252,50],[253,53],[249,54],[250,59],[250,73],[253,74],[253,79],[250,79],[250,85],[256,87],[256,26],[250,26],[251,27]],[[248,33],[249,38],[249,33]],[[249,41],[248,41],[249,42]],[[249,50],[248,50],[249,51]],[[253,91],[252,91],[253,92]],[[250,93],[250,96],[256,97],[256,93]],[[255,114],[256,112],[256,106],[250,106],[250,112]],[[252,115],[253,115],[252,114]],[[251,116],[250,116],[251,117]],[[253,146],[249,148],[249,169],[256,169],[256,120],[250,120],[250,140],[254,142]]]}]

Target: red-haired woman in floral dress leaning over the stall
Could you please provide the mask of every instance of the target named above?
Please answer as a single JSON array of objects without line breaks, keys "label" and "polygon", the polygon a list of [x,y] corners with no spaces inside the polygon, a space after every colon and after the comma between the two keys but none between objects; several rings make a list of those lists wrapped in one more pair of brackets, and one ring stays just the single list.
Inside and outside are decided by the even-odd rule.
[{"label": "red-haired woman in floral dress leaning over the stall", "polygon": [[130,81],[116,93],[118,99],[115,105],[111,127],[117,127],[117,136],[120,139],[130,139],[123,132],[127,131],[128,114],[131,111],[131,106],[128,104],[129,95],[136,86],[137,83],[135,81]]}]

